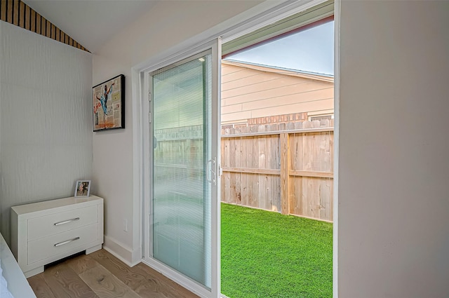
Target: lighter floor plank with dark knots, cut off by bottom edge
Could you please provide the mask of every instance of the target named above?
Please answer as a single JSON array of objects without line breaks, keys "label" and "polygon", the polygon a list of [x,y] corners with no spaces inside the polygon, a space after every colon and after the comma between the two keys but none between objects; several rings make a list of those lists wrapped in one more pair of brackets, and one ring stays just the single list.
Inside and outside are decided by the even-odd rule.
[{"label": "lighter floor plank with dark knots, cut off by bottom edge", "polygon": [[141,298],[125,285],[119,278],[112,275],[105,267],[98,265],[79,275],[100,298],[126,297]]}]

